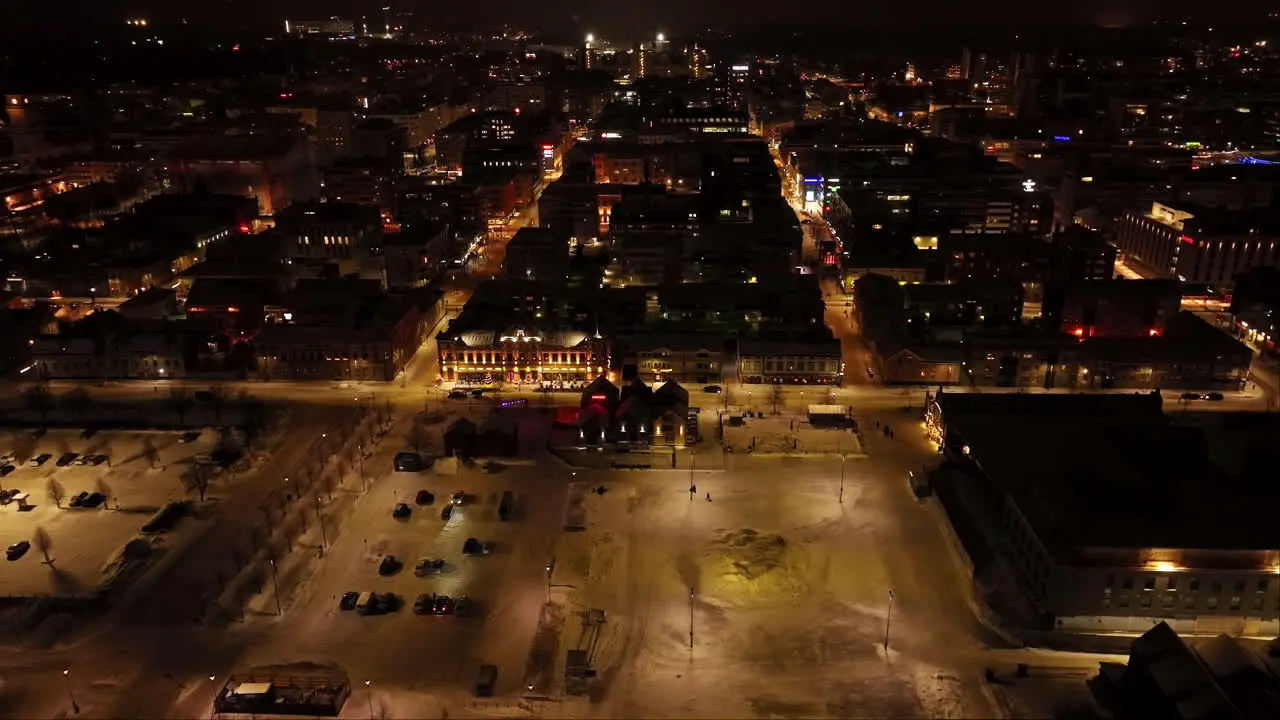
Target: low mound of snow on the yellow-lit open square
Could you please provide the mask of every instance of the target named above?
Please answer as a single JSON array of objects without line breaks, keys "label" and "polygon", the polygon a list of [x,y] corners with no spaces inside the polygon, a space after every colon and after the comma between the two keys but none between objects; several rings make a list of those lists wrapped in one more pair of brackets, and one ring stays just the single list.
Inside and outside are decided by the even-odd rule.
[{"label": "low mound of snow on the yellow-lit open square", "polygon": [[778,534],[721,530],[704,556],[701,594],[724,605],[790,601],[804,591],[804,551]]}]

